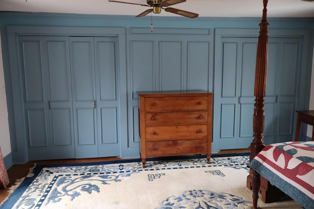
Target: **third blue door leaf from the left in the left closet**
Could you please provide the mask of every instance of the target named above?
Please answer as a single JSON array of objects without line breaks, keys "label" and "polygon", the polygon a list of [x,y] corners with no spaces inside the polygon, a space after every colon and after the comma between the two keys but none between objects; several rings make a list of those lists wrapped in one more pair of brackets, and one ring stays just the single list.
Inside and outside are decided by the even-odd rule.
[{"label": "third blue door leaf from the left in the left closet", "polygon": [[93,37],[70,37],[76,158],[98,157]]}]

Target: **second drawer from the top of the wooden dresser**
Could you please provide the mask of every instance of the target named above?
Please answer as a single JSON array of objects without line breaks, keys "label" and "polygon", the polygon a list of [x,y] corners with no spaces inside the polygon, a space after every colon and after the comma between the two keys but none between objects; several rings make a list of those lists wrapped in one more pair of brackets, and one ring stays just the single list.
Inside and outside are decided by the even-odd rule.
[{"label": "second drawer from the top of the wooden dresser", "polygon": [[146,126],[206,124],[207,122],[207,111],[145,114]]}]

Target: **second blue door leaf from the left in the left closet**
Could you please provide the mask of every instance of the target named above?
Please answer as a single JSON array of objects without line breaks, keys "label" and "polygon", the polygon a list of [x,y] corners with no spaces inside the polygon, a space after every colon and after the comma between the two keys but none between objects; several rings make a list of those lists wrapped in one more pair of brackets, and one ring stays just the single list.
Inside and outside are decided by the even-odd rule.
[{"label": "second blue door leaf from the left in the left closet", "polygon": [[69,37],[44,37],[53,159],[75,158]]}]

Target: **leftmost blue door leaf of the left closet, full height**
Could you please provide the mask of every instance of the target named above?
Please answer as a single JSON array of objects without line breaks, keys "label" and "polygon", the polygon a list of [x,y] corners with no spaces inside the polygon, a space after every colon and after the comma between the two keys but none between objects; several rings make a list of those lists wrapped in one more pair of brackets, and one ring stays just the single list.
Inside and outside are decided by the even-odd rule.
[{"label": "leftmost blue door leaf of the left closet, full height", "polygon": [[50,126],[44,39],[19,36],[28,160],[49,159]]}]

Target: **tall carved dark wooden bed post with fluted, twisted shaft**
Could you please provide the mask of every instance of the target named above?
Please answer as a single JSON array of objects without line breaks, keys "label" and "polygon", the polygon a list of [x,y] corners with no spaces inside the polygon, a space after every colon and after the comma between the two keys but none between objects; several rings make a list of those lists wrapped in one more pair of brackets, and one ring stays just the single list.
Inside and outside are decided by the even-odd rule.
[{"label": "tall carved dark wooden bed post with fluted, twisted shaft", "polygon": [[[254,95],[255,109],[253,115],[253,132],[254,139],[251,143],[250,161],[264,148],[263,131],[265,126],[265,110],[264,110],[264,97],[266,96],[266,83],[267,83],[267,63],[268,63],[268,31],[267,27],[267,3],[268,0],[263,0],[263,15],[262,22],[260,23],[260,36],[257,49],[256,58],[256,72],[255,72],[255,86]],[[253,188],[253,209],[257,208],[257,201],[259,199],[259,190],[261,185],[261,176],[255,170],[251,169],[252,188]]]}]

